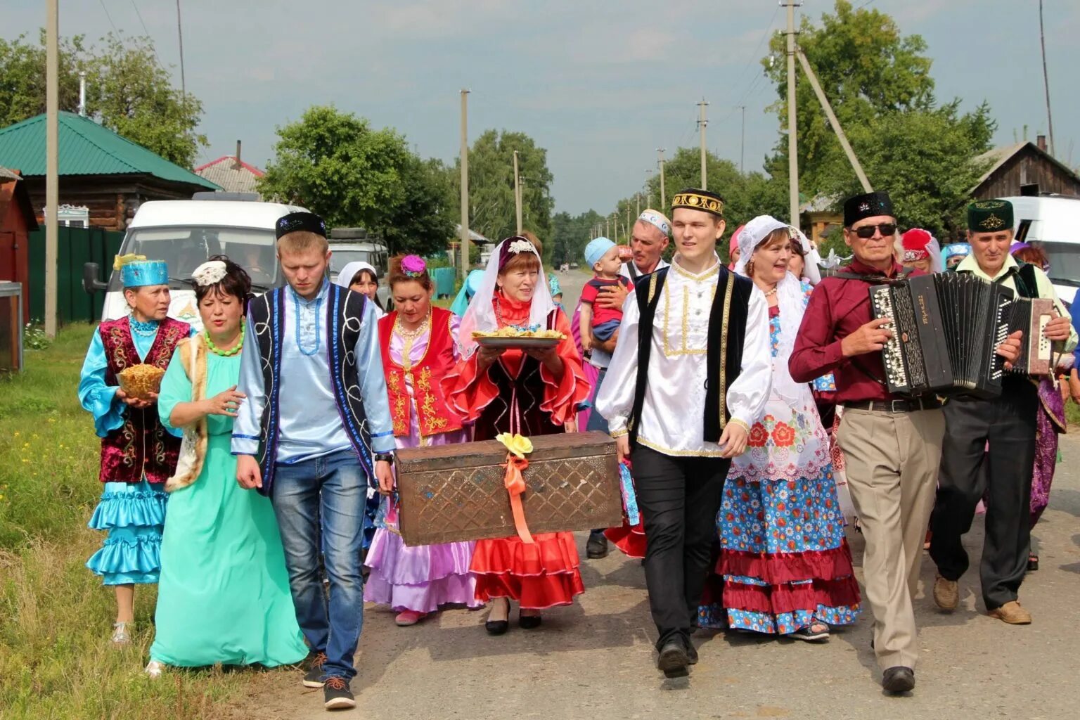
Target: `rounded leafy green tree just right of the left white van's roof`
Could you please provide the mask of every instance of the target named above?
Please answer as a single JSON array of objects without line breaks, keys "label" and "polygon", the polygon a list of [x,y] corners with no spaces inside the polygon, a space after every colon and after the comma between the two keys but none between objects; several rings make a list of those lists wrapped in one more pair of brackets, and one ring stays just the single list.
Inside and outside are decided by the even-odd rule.
[{"label": "rounded leafy green tree just right of the left white van's roof", "polygon": [[445,169],[417,158],[404,136],[326,106],[309,108],[278,136],[259,179],[264,195],[303,205],[330,227],[378,232],[393,253],[446,247],[454,227]]}]

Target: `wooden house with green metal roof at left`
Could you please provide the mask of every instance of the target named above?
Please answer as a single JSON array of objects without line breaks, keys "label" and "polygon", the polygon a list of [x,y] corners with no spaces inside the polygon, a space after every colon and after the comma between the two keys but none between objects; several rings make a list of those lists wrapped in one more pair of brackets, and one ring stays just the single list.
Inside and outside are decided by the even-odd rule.
[{"label": "wooden house with green metal roof at left", "polygon": [[[18,167],[38,220],[44,219],[45,116],[0,130],[0,164]],[[60,217],[70,225],[124,230],[148,200],[187,200],[214,182],[73,112],[59,113]]]}]

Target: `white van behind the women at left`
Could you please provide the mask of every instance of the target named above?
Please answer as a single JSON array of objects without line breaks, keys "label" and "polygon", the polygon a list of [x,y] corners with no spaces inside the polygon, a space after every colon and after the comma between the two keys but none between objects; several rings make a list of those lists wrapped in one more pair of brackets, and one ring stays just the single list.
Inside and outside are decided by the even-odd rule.
[{"label": "white van behind the women at left", "polygon": [[[173,300],[168,315],[202,329],[191,285],[184,282],[212,255],[228,255],[252,276],[256,294],[284,285],[278,266],[274,223],[288,213],[302,210],[280,203],[227,200],[158,200],[143,203],[127,227],[120,254],[145,255],[168,263]],[[83,288],[105,290],[102,320],[127,314],[120,273],[108,283],[97,280],[96,262],[83,268]]]}]

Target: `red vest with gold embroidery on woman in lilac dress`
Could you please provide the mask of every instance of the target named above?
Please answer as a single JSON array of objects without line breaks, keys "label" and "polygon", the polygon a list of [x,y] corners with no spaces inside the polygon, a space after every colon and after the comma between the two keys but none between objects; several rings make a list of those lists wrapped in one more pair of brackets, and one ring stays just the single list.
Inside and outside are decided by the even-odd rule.
[{"label": "red vest with gold embroidery on woman in lilac dress", "polygon": [[[394,421],[394,435],[408,437],[413,420],[413,403],[407,385],[413,385],[416,399],[417,426],[421,436],[437,435],[461,430],[461,417],[446,402],[441,380],[454,368],[454,337],[450,335],[451,313],[442,308],[431,309],[431,328],[428,349],[423,357],[406,369],[394,363],[390,355],[390,341],[397,321],[397,311],[379,318],[379,338],[382,349],[382,371],[387,375],[387,393],[390,396],[390,416]],[[408,359],[410,347],[402,350],[402,361]]]}]

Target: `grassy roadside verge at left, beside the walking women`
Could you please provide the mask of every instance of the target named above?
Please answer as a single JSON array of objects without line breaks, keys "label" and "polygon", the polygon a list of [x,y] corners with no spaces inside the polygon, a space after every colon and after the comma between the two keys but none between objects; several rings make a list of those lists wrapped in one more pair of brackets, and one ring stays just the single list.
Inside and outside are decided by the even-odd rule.
[{"label": "grassy roadside verge at left, beside the walking women", "polygon": [[141,675],[156,586],[136,589],[133,644],[108,642],[116,601],[84,566],[103,540],[86,528],[98,438],[76,394],[92,331],[64,328],[0,378],[0,719],[229,717],[261,673]]}]

